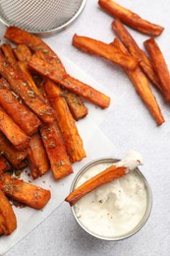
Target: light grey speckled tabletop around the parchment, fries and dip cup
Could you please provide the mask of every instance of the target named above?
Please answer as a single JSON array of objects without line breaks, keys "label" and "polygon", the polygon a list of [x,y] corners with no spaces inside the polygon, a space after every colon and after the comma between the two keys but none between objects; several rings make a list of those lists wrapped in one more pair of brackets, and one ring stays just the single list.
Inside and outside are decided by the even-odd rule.
[{"label": "light grey speckled tabletop around the parchment, fries and dip cup", "polygon": [[[165,32],[157,38],[166,61],[170,65],[170,5],[168,0],[121,0],[122,5],[145,19],[163,25]],[[116,156],[124,156],[130,149],[142,153],[142,171],[153,191],[153,208],[148,222],[136,235],[119,242],[107,242],[86,234],[75,222],[69,206],[63,203],[42,224],[4,256],[53,255],[114,255],[168,256],[170,254],[170,106],[153,89],[166,119],[157,127],[141,98],[122,70],[98,57],[89,56],[72,46],[78,34],[112,41],[112,18],[102,12],[95,0],[88,0],[85,11],[70,28],[46,42],[55,42],[60,52],[82,68],[87,75],[112,91],[113,109],[104,117],[100,129],[115,145]],[[148,36],[131,30],[139,44]],[[102,112],[101,112],[102,114]]]}]

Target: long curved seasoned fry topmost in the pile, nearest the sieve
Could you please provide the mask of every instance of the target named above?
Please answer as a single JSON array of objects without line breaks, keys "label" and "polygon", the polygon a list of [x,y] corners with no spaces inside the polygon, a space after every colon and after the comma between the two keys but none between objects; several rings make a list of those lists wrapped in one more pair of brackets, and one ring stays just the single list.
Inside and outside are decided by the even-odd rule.
[{"label": "long curved seasoned fry topmost in the pile, nearest the sieve", "polygon": [[57,69],[65,72],[65,68],[57,54],[39,37],[16,27],[8,27],[4,36],[16,44],[26,44],[33,52],[40,50],[47,53],[48,57],[55,60]]}]

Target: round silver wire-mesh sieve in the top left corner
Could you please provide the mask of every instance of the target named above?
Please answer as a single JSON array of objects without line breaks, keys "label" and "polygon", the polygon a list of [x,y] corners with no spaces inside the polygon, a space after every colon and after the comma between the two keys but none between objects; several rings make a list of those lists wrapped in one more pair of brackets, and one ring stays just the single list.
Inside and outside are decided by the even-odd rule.
[{"label": "round silver wire-mesh sieve in the top left corner", "polygon": [[67,28],[84,7],[85,0],[0,0],[0,22],[48,36]]}]

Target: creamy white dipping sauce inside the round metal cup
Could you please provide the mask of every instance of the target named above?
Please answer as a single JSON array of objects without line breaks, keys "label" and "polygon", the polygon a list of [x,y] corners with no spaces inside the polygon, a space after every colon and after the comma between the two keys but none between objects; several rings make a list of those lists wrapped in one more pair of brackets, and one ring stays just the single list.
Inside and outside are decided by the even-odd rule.
[{"label": "creamy white dipping sauce inside the round metal cup", "polygon": [[[98,163],[87,169],[76,188],[110,165]],[[142,221],[146,210],[142,177],[136,171],[131,171],[91,191],[74,208],[80,222],[89,231],[105,237],[124,235]]]}]

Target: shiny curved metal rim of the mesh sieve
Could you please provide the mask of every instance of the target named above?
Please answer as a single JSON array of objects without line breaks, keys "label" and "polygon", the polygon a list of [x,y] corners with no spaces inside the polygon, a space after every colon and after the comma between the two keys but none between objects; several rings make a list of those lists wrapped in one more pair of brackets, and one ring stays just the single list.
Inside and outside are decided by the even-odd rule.
[{"label": "shiny curved metal rim of the mesh sieve", "polygon": [[[75,13],[75,15],[69,20],[67,21],[66,23],[64,23],[63,25],[55,28],[55,29],[52,29],[52,30],[48,30],[48,31],[44,31],[44,32],[36,32],[36,31],[32,31],[32,30],[26,30],[22,27],[19,27],[20,29],[23,29],[23,30],[26,30],[27,32],[30,32],[30,33],[33,33],[39,37],[48,37],[48,36],[51,36],[57,32],[61,32],[61,31],[64,31],[65,29],[67,29],[73,22],[75,22],[78,17],[80,16],[80,14],[83,12],[84,8],[85,8],[85,3],[86,3],[86,0],[83,0],[82,1],[82,4],[80,6],[80,8],[78,9],[78,11]],[[14,24],[9,24],[6,22],[5,19],[2,18],[2,16],[0,16],[0,23],[2,23],[3,25],[5,25],[6,27],[10,27],[10,26],[15,26]]]}]

